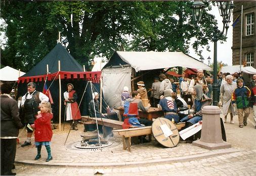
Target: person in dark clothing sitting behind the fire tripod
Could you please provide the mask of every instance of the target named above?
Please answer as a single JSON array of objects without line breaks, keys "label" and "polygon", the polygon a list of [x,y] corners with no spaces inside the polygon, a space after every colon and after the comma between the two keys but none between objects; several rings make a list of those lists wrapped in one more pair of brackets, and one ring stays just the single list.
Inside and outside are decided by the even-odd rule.
[{"label": "person in dark clothing sitting behind the fire tripod", "polygon": [[[99,110],[100,103],[98,99],[99,99],[99,94],[97,92],[94,92],[93,99],[89,103],[89,115],[91,116],[91,118],[95,118],[95,112],[96,112],[97,118],[110,119],[107,115],[100,112]],[[101,125],[98,125],[98,128],[100,132],[103,131],[104,137],[106,136],[113,137],[113,133],[112,133],[113,128],[105,127],[105,126],[103,128]]]}]

